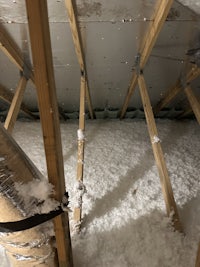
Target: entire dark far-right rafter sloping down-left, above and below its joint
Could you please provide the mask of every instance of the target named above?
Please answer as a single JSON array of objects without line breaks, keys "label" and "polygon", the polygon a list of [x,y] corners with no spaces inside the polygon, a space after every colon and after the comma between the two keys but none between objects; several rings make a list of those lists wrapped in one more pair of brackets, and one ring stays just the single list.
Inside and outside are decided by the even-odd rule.
[{"label": "entire dark far-right rafter sloping down-left, above and below its joint", "polygon": [[[200,68],[196,65],[193,66],[189,72],[186,74],[185,82],[186,84],[190,83],[191,81],[195,80],[200,75]],[[158,112],[169,105],[169,103],[183,90],[183,86],[181,84],[180,79],[177,80],[175,85],[169,88],[166,92],[165,96],[158,102],[158,104],[154,108],[154,114],[158,114]]]}]

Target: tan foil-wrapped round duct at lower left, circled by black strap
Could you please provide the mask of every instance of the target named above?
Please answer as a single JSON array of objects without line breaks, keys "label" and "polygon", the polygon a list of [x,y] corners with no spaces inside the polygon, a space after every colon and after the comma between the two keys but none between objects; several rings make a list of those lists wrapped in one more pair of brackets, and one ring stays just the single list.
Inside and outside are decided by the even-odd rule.
[{"label": "tan foil-wrapped round duct at lower left, circled by black strap", "polygon": [[[42,178],[33,163],[0,125],[0,203],[4,207],[0,209],[1,222],[22,220],[38,212],[38,207],[45,201],[26,192],[30,198],[25,203],[16,183],[29,185],[33,181],[37,184],[38,181],[39,185]],[[0,233],[0,244],[15,267],[57,266],[52,243],[51,223],[20,232]]]}]

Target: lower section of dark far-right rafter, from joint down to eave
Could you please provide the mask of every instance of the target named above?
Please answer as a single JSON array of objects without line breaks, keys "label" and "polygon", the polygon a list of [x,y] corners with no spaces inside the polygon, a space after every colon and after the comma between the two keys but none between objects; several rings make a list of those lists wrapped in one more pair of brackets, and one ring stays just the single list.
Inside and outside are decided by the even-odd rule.
[{"label": "lower section of dark far-right rafter, from joint down to eave", "polygon": [[165,96],[155,106],[155,108],[153,109],[154,114],[157,115],[160,110],[167,106],[181,91],[181,82],[180,80],[177,80],[176,84],[169,88]]}]

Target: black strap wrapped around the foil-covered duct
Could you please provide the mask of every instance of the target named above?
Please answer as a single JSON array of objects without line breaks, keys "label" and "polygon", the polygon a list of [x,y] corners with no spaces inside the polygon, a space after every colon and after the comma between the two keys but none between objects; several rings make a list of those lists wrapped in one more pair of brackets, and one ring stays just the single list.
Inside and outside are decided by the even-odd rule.
[{"label": "black strap wrapped around the foil-covered duct", "polygon": [[40,225],[44,222],[47,222],[56,216],[59,216],[65,211],[70,211],[69,204],[69,195],[68,192],[65,192],[61,204],[54,210],[51,210],[49,213],[41,213],[35,214],[31,217],[20,221],[12,221],[12,222],[0,222],[0,232],[2,233],[11,233],[18,232],[30,229],[37,225]]}]

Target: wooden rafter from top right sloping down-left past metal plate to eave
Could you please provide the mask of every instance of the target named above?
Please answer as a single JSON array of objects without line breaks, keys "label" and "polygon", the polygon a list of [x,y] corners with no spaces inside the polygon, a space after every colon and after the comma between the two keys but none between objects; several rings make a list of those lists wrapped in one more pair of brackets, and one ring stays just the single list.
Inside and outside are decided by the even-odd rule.
[{"label": "wooden rafter from top right sloping down-left past metal plate to eave", "polygon": [[[148,28],[147,33],[143,39],[142,46],[139,50],[139,56],[140,56],[139,68],[140,69],[144,69],[146,62],[148,61],[152,48],[167,18],[167,15],[169,13],[172,3],[173,3],[173,0],[164,0],[164,1],[158,0],[156,3],[155,14],[153,16],[153,22],[150,24],[150,27]],[[134,70],[133,76],[130,82],[130,86],[128,88],[128,92],[125,97],[125,101],[124,101],[124,104],[121,110],[121,114],[120,114],[121,119],[124,117],[126,113],[131,96],[137,85],[137,78],[138,78],[137,76],[138,76],[137,71]]]}]

